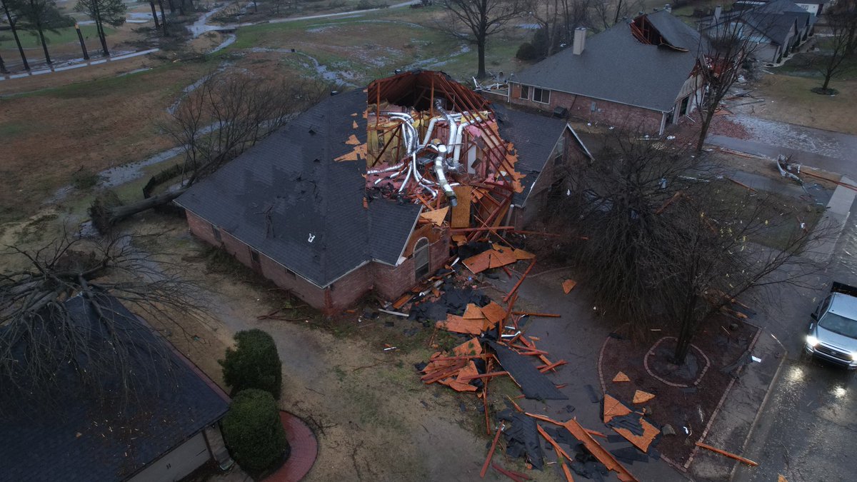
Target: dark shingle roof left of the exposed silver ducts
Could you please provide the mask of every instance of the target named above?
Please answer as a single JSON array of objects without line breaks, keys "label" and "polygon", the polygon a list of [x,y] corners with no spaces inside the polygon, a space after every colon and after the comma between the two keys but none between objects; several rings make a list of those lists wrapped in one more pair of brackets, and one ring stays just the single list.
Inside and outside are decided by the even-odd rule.
[{"label": "dark shingle roof left of the exposed silver ducts", "polygon": [[363,208],[365,160],[334,161],[366,142],[365,110],[360,90],[328,97],[177,203],[317,286],[371,260],[395,265],[421,208]]}]

